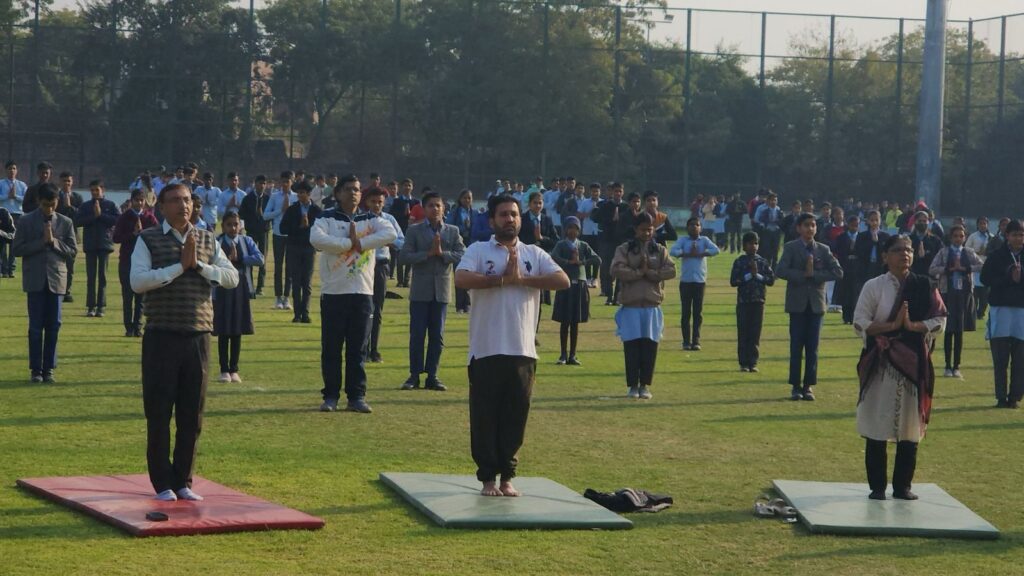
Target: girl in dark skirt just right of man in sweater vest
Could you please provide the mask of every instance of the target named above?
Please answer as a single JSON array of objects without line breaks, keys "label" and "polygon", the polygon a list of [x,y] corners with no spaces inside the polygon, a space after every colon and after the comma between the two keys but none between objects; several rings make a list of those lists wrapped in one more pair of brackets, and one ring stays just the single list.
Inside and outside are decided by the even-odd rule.
[{"label": "girl in dark skirt just right of man in sweater vest", "polygon": [[220,220],[223,231],[217,238],[221,252],[239,272],[234,288],[217,286],[213,291],[213,335],[217,336],[217,358],[220,361],[221,382],[242,382],[239,359],[242,336],[253,333],[253,312],[250,304],[253,291],[252,266],[263,265],[263,254],[252,238],[242,234],[242,218],[237,211],[227,211]]}]

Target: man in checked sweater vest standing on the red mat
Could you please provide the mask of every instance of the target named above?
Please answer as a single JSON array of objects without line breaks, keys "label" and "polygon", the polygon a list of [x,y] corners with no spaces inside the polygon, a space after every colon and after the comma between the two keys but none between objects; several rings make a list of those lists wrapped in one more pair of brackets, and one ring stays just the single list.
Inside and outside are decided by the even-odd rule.
[{"label": "man in checked sweater vest standing on the red mat", "polygon": [[[164,223],[139,235],[141,242],[131,257],[131,288],[143,294],[146,321],[142,336],[146,462],[158,500],[202,500],[191,490],[191,474],[213,330],[210,288],[234,288],[239,273],[214,235],[189,223],[188,187],[165,187],[158,204]],[[177,427],[173,462],[172,413]]]}]

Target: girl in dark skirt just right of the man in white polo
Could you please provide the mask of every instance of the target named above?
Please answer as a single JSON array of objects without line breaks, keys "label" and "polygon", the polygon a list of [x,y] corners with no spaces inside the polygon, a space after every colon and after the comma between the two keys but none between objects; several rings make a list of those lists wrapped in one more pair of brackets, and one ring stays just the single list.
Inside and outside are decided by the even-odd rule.
[{"label": "girl in dark skirt just right of the man in white polo", "polygon": [[[577,342],[580,337],[580,324],[590,320],[590,290],[587,281],[587,269],[600,265],[601,257],[594,252],[589,244],[580,240],[580,218],[565,216],[562,218],[562,233],[565,238],[555,244],[551,257],[569,278],[569,287],[555,293],[555,305],[551,312],[551,320],[558,322],[561,355],[558,364],[580,366],[577,359]],[[566,354],[566,343],[568,354]]]}]

